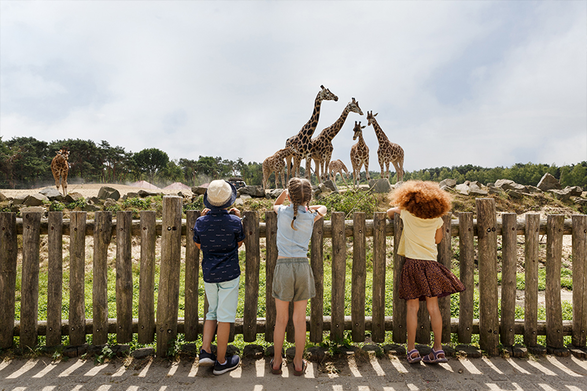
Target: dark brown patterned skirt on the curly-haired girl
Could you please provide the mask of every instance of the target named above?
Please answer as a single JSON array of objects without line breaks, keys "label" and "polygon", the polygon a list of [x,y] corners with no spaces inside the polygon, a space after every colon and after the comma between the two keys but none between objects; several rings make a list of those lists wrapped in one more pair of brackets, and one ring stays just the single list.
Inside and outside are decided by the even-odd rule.
[{"label": "dark brown patterned skirt on the curly-haired girl", "polygon": [[406,258],[400,276],[400,298],[424,301],[426,297],[443,297],[464,290],[465,285],[443,264]]}]

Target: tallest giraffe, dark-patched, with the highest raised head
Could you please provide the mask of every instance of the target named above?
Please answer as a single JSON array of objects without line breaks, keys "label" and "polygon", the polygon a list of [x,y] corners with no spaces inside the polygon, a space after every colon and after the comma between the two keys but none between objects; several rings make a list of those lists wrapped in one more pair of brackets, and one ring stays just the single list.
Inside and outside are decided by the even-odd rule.
[{"label": "tallest giraffe, dark-patched, with the highest raised head", "polygon": [[[299,167],[301,165],[302,159],[306,159],[306,178],[310,179],[310,163],[311,163],[311,151],[312,151],[312,134],[316,130],[316,126],[318,125],[318,118],[320,117],[320,105],[323,100],[333,100],[338,101],[338,96],[331,93],[329,89],[324,86],[320,86],[321,90],[316,95],[316,99],[314,101],[314,111],[312,113],[312,117],[310,117],[309,121],[303,125],[302,129],[296,134],[288,138],[285,141],[285,146],[289,147],[290,144],[294,141],[298,141],[298,152],[289,155],[286,157],[287,166],[289,170],[289,178],[296,176],[299,174]],[[294,160],[294,166],[292,170],[292,159]],[[292,175],[292,171],[294,175]]]}]

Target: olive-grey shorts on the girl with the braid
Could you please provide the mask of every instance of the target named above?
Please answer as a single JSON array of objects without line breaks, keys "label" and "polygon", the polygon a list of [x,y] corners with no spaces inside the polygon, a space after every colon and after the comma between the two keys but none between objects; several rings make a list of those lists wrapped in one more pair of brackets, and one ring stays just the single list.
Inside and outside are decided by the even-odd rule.
[{"label": "olive-grey shorts on the girl with the braid", "polygon": [[316,287],[308,258],[278,259],[271,295],[281,301],[302,301],[314,297]]}]

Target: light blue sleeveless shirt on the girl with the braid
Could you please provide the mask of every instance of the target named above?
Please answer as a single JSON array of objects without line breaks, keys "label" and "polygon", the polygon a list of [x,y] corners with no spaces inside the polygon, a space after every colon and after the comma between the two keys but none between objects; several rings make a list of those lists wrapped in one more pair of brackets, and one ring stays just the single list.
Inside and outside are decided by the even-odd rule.
[{"label": "light blue sleeveless shirt on the girl with the braid", "polygon": [[298,206],[298,216],[292,229],[294,218],[292,205],[280,205],[277,212],[277,251],[280,257],[301,258],[308,256],[308,243],[312,236],[315,213],[306,212],[305,206]]}]

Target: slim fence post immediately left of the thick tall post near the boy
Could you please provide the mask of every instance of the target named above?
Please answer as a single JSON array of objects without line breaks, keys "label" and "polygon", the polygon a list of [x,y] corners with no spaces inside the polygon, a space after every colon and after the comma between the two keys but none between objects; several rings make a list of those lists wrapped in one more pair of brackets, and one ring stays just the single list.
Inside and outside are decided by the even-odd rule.
[{"label": "slim fence post immediately left of the thick tall post near the boy", "polygon": [[[154,210],[141,210],[139,344],[150,344],[155,340],[155,243],[157,239],[155,219],[156,212]],[[187,266],[187,260],[185,263]]]}]

